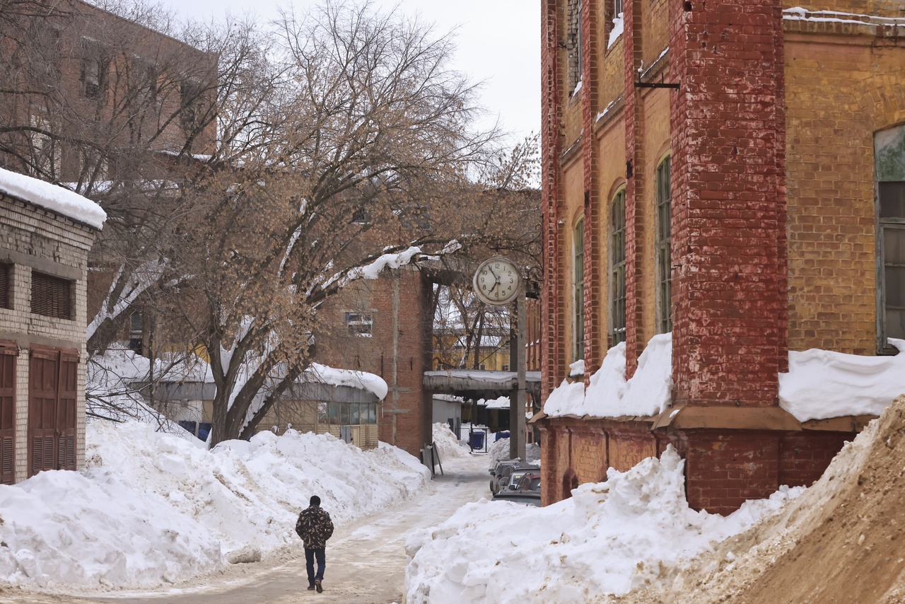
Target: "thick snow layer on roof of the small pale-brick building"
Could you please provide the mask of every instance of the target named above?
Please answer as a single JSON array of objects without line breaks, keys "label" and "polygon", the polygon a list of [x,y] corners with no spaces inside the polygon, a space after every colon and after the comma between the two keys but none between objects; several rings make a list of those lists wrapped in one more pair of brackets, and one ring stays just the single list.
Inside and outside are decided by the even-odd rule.
[{"label": "thick snow layer on roof of the small pale-brick building", "polygon": [[98,230],[107,219],[100,206],[78,193],[4,168],[0,168],[0,191]]}]

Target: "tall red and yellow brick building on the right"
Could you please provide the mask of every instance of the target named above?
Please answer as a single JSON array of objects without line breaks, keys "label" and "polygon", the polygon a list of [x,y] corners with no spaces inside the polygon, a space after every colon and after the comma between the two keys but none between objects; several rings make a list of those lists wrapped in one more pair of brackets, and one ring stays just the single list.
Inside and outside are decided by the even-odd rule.
[{"label": "tall red and yellow brick building on the right", "polygon": [[810,484],[864,418],[779,407],[788,351],[905,337],[900,4],[541,5],[542,390],[666,331],[673,384],[662,417],[539,420],[545,503],[669,444],[695,508]]}]

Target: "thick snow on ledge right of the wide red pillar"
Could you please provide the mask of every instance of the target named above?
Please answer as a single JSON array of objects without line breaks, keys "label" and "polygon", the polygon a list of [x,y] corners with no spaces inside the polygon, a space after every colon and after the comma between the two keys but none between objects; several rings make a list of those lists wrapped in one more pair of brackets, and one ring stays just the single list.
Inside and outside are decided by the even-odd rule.
[{"label": "thick snow on ledge right of the wide red pillar", "polygon": [[830,350],[789,352],[779,374],[779,405],[798,421],[879,416],[905,394],[905,340],[889,339],[894,357],[862,357]]}]

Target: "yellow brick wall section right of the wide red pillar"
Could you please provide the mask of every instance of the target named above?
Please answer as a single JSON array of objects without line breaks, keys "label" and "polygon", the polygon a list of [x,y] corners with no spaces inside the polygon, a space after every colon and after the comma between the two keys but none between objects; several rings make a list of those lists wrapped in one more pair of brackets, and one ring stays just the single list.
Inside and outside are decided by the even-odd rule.
[{"label": "yellow brick wall section right of the wide red pillar", "polygon": [[790,25],[797,24],[786,23],[789,348],[872,354],[873,133],[905,120],[905,49]]}]

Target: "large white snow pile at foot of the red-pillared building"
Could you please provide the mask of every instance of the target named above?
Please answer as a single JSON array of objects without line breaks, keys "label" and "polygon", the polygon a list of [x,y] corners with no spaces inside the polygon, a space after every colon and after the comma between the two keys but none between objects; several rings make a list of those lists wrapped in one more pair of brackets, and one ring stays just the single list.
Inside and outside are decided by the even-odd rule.
[{"label": "large white snow pile at foot of the red-pillared building", "polygon": [[625,473],[543,508],[469,503],[406,542],[406,602],[586,602],[654,580],[711,542],[742,532],[804,489],[781,488],[727,517],[694,512],[670,446]]}]

